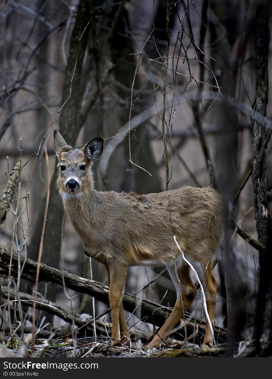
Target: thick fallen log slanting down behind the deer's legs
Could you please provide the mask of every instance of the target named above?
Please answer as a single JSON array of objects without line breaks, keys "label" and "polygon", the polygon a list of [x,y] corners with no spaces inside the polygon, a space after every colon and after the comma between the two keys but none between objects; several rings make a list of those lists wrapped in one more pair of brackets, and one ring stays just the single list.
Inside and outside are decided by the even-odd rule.
[{"label": "thick fallen log slanting down behind the deer's legs", "polygon": [[[0,274],[8,274],[10,259],[11,252],[4,248],[0,248]],[[38,263],[29,258],[25,258],[22,255],[20,255],[19,260],[20,267],[23,267],[24,264],[24,269],[21,272],[20,277],[29,280],[30,282],[35,282]],[[18,274],[18,255],[16,253],[13,253],[12,256],[11,274],[16,279]],[[59,269],[49,267],[44,263],[40,264],[39,281],[61,286],[65,283],[66,287],[74,291],[89,294],[97,300],[102,301],[104,304],[109,304],[108,286],[94,280],[88,280],[77,275],[70,274],[67,271],[61,271]],[[140,318],[144,319],[145,322],[156,326],[162,326],[171,312],[171,309],[168,307],[148,300],[140,299],[133,294],[125,293],[123,295],[123,307],[125,310],[130,313],[134,313],[137,306],[138,309],[140,308]],[[204,335],[204,323],[197,317],[190,315],[188,312],[186,312],[185,319],[187,336],[196,334],[195,331],[197,329],[196,339],[200,341]],[[183,328],[179,330],[179,332],[183,334]],[[214,326],[214,335],[215,340],[218,343],[222,343],[226,340],[227,332],[223,328]]]}]

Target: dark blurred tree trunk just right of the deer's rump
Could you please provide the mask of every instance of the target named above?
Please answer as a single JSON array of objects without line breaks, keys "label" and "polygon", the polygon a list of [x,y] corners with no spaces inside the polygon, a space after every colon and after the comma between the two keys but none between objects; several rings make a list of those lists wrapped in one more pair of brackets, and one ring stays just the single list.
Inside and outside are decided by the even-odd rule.
[{"label": "dark blurred tree trunk just right of the deer's rump", "polygon": [[[236,90],[236,56],[234,55],[234,43],[238,37],[237,3],[235,1],[211,1],[211,11],[214,13],[209,20],[211,31],[212,51],[210,55],[215,59],[212,61],[212,70],[216,75],[217,83],[221,88],[223,99],[212,105],[215,122],[221,129],[222,134],[215,136],[215,185],[223,199],[223,217],[225,223],[223,257],[224,263],[219,262],[220,290],[224,299],[222,313],[225,318],[224,326],[229,331],[229,352],[233,355],[235,341],[239,330],[237,320],[239,319],[239,304],[242,304],[242,293],[244,287],[235,279],[235,257],[230,246],[230,230],[228,229],[229,202],[232,202],[236,191],[237,181],[237,152],[238,152],[238,130],[237,110],[228,103],[228,96],[234,96]],[[222,29],[226,30],[221,38]],[[216,85],[215,80],[212,82]],[[231,180],[230,180],[231,178]],[[244,308],[243,308],[244,309]],[[242,320],[242,318],[241,318]],[[244,319],[243,319],[244,320]],[[241,325],[239,325],[241,329]]]}]

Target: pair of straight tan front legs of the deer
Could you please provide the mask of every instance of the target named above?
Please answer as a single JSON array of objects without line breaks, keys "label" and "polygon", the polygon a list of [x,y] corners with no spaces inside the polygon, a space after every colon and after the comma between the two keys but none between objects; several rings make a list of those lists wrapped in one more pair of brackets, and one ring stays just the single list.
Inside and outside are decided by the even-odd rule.
[{"label": "pair of straight tan front legs of the deer", "polygon": [[[121,332],[128,338],[129,332],[127,330],[126,319],[122,305],[122,297],[124,293],[124,285],[127,274],[127,267],[125,266],[110,266],[110,308],[112,309],[112,338],[121,340]],[[121,316],[119,316],[121,313]],[[121,328],[120,328],[121,324]]]}]

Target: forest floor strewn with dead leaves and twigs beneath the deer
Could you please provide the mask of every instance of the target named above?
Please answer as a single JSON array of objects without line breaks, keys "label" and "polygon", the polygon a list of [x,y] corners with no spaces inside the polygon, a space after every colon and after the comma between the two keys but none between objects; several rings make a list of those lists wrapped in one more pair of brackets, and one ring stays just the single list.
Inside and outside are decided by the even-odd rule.
[{"label": "forest floor strewn with dead leaves and twigs beneath the deer", "polygon": [[[177,357],[252,357],[256,356],[252,341],[241,341],[235,349],[235,354],[229,354],[226,343],[216,347],[200,347],[186,341],[172,340],[172,345],[162,344],[159,349],[144,349],[127,345],[112,345],[106,342],[87,342],[87,339],[57,338],[36,339],[32,344],[31,335],[28,341],[19,346],[19,340],[13,339],[13,348],[10,342],[2,338],[0,345],[0,357],[30,357],[30,358],[101,358],[101,357],[126,357],[126,358],[177,358]],[[6,346],[4,345],[6,342]],[[139,344],[140,341],[138,341]],[[136,344],[134,343],[136,346]],[[9,346],[9,347],[8,347]],[[262,356],[266,356],[266,346],[263,346]],[[271,356],[271,355],[268,355]]]}]

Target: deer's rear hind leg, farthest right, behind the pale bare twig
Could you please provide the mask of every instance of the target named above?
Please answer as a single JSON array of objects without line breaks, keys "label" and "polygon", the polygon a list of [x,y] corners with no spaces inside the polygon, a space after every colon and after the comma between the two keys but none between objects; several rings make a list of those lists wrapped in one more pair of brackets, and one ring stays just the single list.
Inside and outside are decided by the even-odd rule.
[{"label": "deer's rear hind leg, farthest right, behind the pale bare twig", "polygon": [[[211,319],[211,324],[214,324],[214,313],[215,313],[215,303],[216,303],[216,293],[217,293],[217,280],[212,273],[211,267],[208,267],[204,275],[204,282],[206,285],[206,303],[209,318]],[[206,321],[206,331],[203,342],[203,347],[212,346],[212,331],[209,327],[208,321]]]}]

